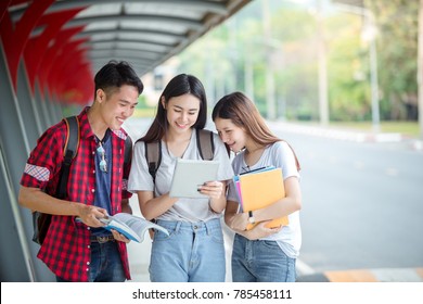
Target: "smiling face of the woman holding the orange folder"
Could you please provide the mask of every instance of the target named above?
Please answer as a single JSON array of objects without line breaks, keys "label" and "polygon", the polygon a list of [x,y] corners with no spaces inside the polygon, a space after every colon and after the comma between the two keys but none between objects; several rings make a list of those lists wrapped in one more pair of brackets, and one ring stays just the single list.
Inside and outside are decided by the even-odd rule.
[{"label": "smiling face of the woman holding the orange folder", "polygon": [[238,153],[246,145],[247,135],[243,128],[236,126],[231,119],[215,118],[216,129],[220,139]]}]

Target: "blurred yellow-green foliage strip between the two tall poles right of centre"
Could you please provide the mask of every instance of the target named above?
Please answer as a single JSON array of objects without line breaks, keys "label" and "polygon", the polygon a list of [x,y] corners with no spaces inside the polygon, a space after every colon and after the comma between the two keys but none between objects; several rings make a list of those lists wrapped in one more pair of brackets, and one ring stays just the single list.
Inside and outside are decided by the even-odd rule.
[{"label": "blurred yellow-green foliage strip between the two tall poles right of centre", "polygon": [[368,50],[360,40],[361,20],[351,14],[328,18],[329,99],[331,121],[370,119]]}]

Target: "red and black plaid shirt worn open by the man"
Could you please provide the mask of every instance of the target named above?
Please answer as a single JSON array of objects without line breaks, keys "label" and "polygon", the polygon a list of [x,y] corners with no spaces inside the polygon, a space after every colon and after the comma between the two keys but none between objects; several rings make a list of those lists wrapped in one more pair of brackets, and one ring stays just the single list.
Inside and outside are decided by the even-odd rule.
[{"label": "red and black plaid shirt worn open by the man", "polygon": [[[95,137],[88,123],[86,107],[79,115],[80,141],[78,154],[70,166],[66,200],[87,205],[95,197]],[[35,187],[54,195],[63,162],[67,128],[62,121],[50,127],[37,142],[25,166],[21,185]],[[126,191],[130,164],[124,168],[125,130],[112,132],[113,160],[110,173],[112,215],[121,211],[121,199],[130,198]],[[121,263],[130,279],[126,243],[118,242]],[[90,269],[90,230],[75,216],[52,216],[51,226],[37,255],[54,275],[70,281],[88,281]]]}]

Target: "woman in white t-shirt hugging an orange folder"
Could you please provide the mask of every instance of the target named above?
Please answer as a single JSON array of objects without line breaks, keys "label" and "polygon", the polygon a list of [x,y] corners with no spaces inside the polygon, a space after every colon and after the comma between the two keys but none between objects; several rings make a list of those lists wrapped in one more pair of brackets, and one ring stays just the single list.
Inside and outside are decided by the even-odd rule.
[{"label": "woman in white t-shirt hugging an orange folder", "polygon": [[[234,230],[232,279],[235,282],[295,281],[295,261],[302,244],[299,210],[299,163],[294,151],[267,127],[254,103],[243,93],[221,98],[215,105],[213,121],[220,138],[236,156],[232,162],[235,174],[260,167],[282,168],[286,197],[273,204],[249,213],[240,212],[233,182],[229,186],[226,224]],[[289,217],[289,225],[267,228],[274,218]],[[246,230],[249,223],[258,223]]]}]

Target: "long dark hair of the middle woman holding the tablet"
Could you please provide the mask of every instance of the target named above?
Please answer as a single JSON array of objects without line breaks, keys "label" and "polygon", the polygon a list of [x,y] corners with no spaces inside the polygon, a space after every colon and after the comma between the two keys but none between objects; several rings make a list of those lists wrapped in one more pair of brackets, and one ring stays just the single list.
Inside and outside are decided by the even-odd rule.
[{"label": "long dark hair of the middle woman holding the tablet", "polygon": [[207,122],[207,99],[204,86],[195,76],[179,74],[167,84],[158,99],[156,116],[146,134],[139,140],[144,142],[162,140],[168,128],[166,110],[162,105],[162,99],[164,99],[167,104],[171,98],[187,93],[200,99],[198,117],[192,127],[196,129],[204,129]]}]

